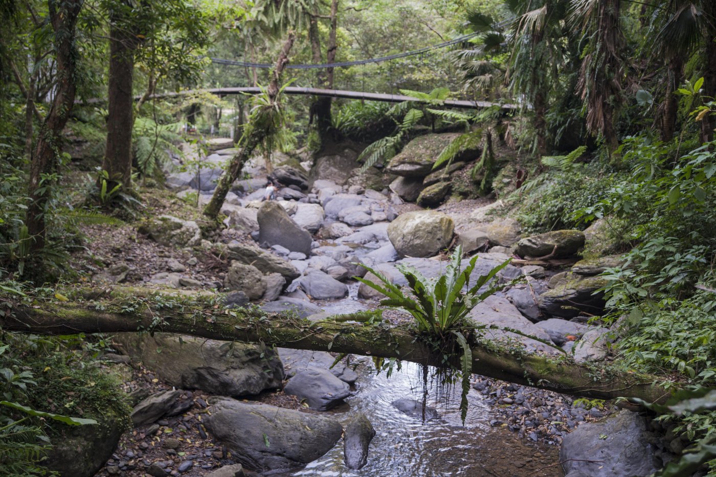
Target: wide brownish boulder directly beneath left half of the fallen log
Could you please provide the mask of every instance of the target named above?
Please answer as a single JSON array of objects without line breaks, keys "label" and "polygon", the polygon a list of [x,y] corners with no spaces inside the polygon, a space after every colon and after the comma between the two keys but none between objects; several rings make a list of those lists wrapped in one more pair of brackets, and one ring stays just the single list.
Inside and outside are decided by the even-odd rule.
[{"label": "wide brownish boulder directly beneath left half of the fallen log", "polygon": [[117,333],[120,349],[169,385],[228,396],[281,387],[284,366],[274,351],[253,344],[175,334]]}]

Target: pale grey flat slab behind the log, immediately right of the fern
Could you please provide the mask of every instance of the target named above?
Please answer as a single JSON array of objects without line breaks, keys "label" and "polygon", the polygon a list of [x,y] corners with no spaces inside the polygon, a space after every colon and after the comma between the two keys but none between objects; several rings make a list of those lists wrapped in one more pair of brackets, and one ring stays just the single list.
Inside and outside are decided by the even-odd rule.
[{"label": "pale grey flat slab behind the log, immediately right of the fern", "polygon": [[[468,314],[470,319],[475,322],[496,325],[498,327],[514,328],[525,334],[538,337],[547,342],[551,341],[551,338],[547,332],[533,324],[528,319],[522,316],[518,309],[511,304],[505,297],[498,297],[492,295],[486,298],[483,302],[480,302],[475,308]],[[520,334],[514,334],[502,329],[485,329],[485,337],[488,339],[511,339],[516,340],[524,344],[527,350],[530,351],[541,351],[545,353],[557,353],[553,347],[538,342],[536,339],[523,337]]]}]

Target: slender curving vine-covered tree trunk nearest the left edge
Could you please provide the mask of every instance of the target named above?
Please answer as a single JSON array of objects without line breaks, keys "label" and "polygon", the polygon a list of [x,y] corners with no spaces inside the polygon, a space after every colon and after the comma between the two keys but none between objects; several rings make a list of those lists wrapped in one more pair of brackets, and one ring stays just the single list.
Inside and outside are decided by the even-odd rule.
[{"label": "slender curving vine-covered tree trunk nearest the left edge", "polygon": [[[57,82],[54,100],[37,135],[37,144],[30,163],[29,196],[25,224],[32,240],[31,251],[44,248],[47,238],[45,213],[52,184],[42,183],[43,175],[57,170],[57,157],[62,143],[62,129],[67,124],[69,112],[77,92],[77,51],[74,48],[77,17],[82,0],[48,0],[49,21],[54,30]],[[41,187],[44,186],[44,187]]]}]

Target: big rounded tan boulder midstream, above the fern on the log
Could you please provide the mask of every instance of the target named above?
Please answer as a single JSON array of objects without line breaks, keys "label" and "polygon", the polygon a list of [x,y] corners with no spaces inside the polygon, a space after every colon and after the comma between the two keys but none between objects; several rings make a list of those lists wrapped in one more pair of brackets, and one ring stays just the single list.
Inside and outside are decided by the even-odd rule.
[{"label": "big rounded tan boulder midstream, above the fern on the log", "polygon": [[390,223],[388,238],[401,255],[433,256],[448,247],[453,227],[453,219],[445,213],[407,212]]}]

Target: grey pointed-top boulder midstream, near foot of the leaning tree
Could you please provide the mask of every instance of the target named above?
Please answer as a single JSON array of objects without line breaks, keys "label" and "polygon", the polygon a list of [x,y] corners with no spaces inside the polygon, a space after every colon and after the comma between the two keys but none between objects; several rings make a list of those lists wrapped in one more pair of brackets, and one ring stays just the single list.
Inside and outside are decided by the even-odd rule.
[{"label": "grey pointed-top boulder midstream, near foot of the leaning tree", "polygon": [[290,251],[311,254],[311,234],[291,220],[283,207],[266,201],[258,209],[258,241],[269,246],[281,245]]}]

